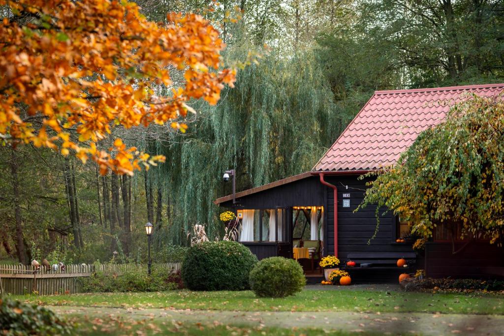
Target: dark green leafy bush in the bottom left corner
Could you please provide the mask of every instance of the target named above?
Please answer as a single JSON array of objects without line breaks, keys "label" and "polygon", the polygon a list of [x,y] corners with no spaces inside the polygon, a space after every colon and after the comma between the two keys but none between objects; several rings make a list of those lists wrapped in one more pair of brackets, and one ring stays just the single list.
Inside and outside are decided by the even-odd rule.
[{"label": "dark green leafy bush in the bottom left corner", "polygon": [[2,335],[70,335],[72,326],[51,310],[0,297]]}]

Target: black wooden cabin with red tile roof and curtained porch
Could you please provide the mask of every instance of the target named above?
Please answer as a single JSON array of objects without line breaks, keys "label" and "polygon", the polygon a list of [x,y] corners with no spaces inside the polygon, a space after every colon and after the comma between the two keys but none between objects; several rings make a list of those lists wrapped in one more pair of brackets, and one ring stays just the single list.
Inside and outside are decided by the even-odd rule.
[{"label": "black wooden cabin with red tile roof and curtained porch", "polygon": [[361,175],[396,163],[418,134],[442,121],[455,102],[469,94],[497,96],[503,90],[504,84],[489,84],[376,91],[311,171],[237,192],[234,204],[233,195],[215,203],[242,216],[239,241],[259,259],[296,258],[307,273],[320,273],[320,256],[336,255],[342,263],[357,262],[351,270],[357,282],[396,282],[405,272],[396,265],[401,257],[408,260],[407,273],[421,268],[435,278],[502,278],[504,254],[488,242],[453,243],[439,227],[425,250],[416,253],[414,239],[397,242],[408,237],[408,223],[380,209],[379,231],[370,240],[375,207],[354,210],[369,181],[359,179]]}]

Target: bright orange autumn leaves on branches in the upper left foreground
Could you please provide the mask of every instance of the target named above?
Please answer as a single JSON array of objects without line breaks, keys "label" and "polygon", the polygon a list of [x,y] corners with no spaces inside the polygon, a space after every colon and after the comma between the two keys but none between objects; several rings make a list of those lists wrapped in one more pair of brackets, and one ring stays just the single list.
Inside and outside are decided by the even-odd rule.
[{"label": "bright orange autumn leaves on branches in the upper left foreground", "polygon": [[[184,130],[191,99],[216,104],[234,70],[221,68],[224,43],[207,20],[168,14],[144,18],[135,3],[109,0],[0,0],[0,137],[63,155],[91,158],[104,174],[133,174],[149,157],[112,129],[150,123]],[[172,82],[183,74],[183,85]],[[166,87],[170,94],[155,94]]]}]

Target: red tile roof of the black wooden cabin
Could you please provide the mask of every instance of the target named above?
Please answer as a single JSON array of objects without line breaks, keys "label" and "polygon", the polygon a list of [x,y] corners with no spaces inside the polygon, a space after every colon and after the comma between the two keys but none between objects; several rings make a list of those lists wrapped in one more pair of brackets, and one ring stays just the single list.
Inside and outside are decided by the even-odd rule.
[{"label": "red tile roof of the black wooden cabin", "polygon": [[504,84],[376,91],[312,171],[373,170],[394,164],[418,134],[442,121],[467,93],[497,96]]}]

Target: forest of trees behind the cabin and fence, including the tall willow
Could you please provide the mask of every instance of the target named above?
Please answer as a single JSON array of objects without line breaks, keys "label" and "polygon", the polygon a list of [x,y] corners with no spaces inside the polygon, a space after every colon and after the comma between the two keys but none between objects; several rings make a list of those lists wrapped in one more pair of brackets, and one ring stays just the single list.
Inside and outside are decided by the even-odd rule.
[{"label": "forest of trees behind the cabin and fence, including the tall willow", "polygon": [[[226,64],[255,61],[216,106],[192,102],[183,134],[116,127],[127,145],[167,158],[134,177],[101,176],[94,162],[49,149],[0,147],[0,259],[143,261],[149,221],[155,261],[170,261],[193,224],[222,236],[213,200],[231,192],[225,170],[236,169],[237,190],[310,170],[375,90],[504,78],[499,0],[137,3],[153,21],[199,13],[221,32]],[[10,15],[0,8],[0,19]]]}]

